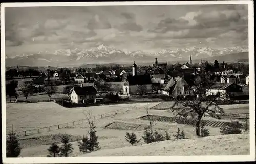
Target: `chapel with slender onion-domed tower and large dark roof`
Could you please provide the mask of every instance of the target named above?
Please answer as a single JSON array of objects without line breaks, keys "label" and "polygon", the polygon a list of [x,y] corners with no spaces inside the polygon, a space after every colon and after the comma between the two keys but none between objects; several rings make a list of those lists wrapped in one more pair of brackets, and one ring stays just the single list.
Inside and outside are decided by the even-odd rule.
[{"label": "chapel with slender onion-domed tower and large dark roof", "polygon": [[132,76],[124,79],[123,94],[139,94],[139,88],[143,87],[145,93],[152,92],[152,82],[150,75],[137,75],[137,65],[133,64]]}]

